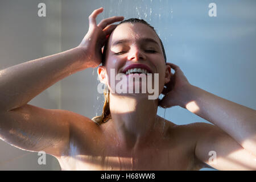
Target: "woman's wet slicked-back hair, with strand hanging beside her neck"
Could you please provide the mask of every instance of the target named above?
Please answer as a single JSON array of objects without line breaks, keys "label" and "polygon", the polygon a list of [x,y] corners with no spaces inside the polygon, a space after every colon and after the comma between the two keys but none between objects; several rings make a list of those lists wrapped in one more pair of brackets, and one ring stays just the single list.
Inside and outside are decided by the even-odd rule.
[{"label": "woman's wet slicked-back hair, with strand hanging beside her neck", "polygon": [[[149,23],[147,23],[143,19],[130,18],[130,19],[123,20],[119,24],[122,24],[122,23],[143,23],[143,24],[146,24],[148,27],[152,28],[152,30],[154,30],[155,34],[158,36],[154,27],[152,27]],[[105,65],[106,51],[108,50],[109,37],[106,40],[106,43],[105,43],[105,46],[104,46],[104,49],[103,49],[102,65]],[[158,38],[159,38],[159,36],[158,36]],[[164,46],[163,46],[162,40],[160,38],[159,38],[159,40],[160,40],[162,51],[163,51],[164,61],[166,62],[166,52],[164,51]],[[111,118],[110,109],[109,109],[109,89],[108,89],[108,86],[106,86],[106,88],[104,90],[104,98],[105,98],[105,102],[104,102],[102,114],[92,118],[92,121],[96,122],[98,125],[101,125],[101,123],[105,123],[105,122],[109,121],[109,119]]]}]

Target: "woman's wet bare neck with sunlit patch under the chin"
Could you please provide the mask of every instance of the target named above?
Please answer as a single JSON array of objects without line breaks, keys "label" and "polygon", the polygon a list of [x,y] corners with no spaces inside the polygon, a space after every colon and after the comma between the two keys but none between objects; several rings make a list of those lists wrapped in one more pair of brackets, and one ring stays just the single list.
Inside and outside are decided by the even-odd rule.
[{"label": "woman's wet bare neck with sunlit patch under the chin", "polygon": [[110,93],[112,125],[119,143],[125,148],[146,144],[158,125],[158,100],[142,96],[119,96]]}]

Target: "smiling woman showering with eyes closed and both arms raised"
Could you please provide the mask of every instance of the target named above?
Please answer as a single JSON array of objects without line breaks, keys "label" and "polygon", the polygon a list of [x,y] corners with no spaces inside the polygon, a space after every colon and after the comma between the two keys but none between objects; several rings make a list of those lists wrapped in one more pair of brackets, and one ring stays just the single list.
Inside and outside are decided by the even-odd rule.
[{"label": "smiling woman showering with eyes closed and both arms raised", "polygon": [[[78,47],[0,72],[0,137],[23,150],[55,156],[65,170],[256,169],[255,110],[189,84],[177,65],[166,63],[162,42],[143,21],[117,26],[112,23],[123,17],[113,16],[96,24],[102,11],[89,16],[88,33]],[[98,76],[110,92],[102,116],[93,119],[97,124],[71,111],[27,104],[62,78],[98,67],[102,59]],[[126,73],[134,65],[154,74],[163,100],[150,100],[149,93],[113,92],[111,71],[128,81],[138,77]],[[181,106],[214,125],[177,126],[156,115],[159,105]]]}]

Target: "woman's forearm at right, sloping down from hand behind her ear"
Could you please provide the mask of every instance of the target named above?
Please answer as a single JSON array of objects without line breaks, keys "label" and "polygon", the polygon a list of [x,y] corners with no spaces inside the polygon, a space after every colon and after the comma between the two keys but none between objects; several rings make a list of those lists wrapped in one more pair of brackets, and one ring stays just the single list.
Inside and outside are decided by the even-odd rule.
[{"label": "woman's forearm at right, sloping down from hand behind her ear", "polygon": [[256,111],[215,96],[196,86],[183,89],[180,103],[201,118],[220,127],[246,150],[256,155]]}]

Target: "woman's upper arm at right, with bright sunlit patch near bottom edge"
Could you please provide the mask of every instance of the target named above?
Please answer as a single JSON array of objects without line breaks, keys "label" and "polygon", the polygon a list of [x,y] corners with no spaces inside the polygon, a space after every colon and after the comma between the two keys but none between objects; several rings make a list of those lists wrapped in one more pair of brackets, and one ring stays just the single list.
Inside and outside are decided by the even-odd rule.
[{"label": "woman's upper arm at right, with bright sunlit patch near bottom edge", "polygon": [[217,126],[196,123],[195,157],[220,170],[255,170],[256,157]]}]

